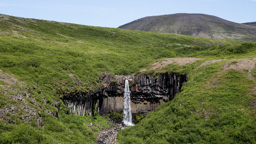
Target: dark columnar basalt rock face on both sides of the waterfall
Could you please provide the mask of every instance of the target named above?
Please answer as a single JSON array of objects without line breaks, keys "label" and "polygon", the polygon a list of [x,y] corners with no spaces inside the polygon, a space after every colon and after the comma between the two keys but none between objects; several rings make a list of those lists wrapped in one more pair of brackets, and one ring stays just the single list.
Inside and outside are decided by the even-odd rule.
[{"label": "dark columnar basalt rock face on both sides of the waterfall", "polygon": [[175,94],[180,92],[183,82],[187,81],[185,75],[175,73],[127,76],[102,74],[100,80],[103,87],[94,92],[71,93],[63,100],[70,111],[77,115],[93,115],[94,111],[101,115],[122,113],[126,79],[130,85],[133,115],[155,111],[160,103],[172,100]]}]

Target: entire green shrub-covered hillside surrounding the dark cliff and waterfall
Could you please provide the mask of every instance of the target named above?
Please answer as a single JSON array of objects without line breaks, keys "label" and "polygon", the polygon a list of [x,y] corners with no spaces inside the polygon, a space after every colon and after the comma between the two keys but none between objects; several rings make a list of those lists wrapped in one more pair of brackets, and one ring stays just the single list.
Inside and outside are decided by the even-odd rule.
[{"label": "entire green shrub-covered hillside surrounding the dark cliff and waterfall", "polygon": [[[121,143],[203,143],[220,136],[253,143],[254,67],[223,67],[253,61],[255,54],[255,43],[0,15],[0,143],[95,143],[97,132],[113,124],[98,114],[69,114],[61,98],[63,92],[99,87],[103,72],[177,72],[189,78],[173,101],[121,131]],[[200,59],[151,69],[182,57]]]}]

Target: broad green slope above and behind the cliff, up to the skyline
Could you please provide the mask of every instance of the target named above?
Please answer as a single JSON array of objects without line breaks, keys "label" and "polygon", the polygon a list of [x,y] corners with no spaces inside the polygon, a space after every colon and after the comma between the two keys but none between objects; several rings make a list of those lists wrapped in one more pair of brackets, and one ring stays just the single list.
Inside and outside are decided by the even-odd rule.
[{"label": "broad green slope above and behind the cliff, up to the skyline", "polygon": [[[189,56],[188,49],[205,53],[213,49],[207,45],[214,43],[237,44],[226,40],[17,19],[10,17],[0,22],[7,33],[0,35],[0,69],[14,74],[31,87],[38,86],[37,91],[43,91],[49,101],[53,101],[51,95],[56,90],[95,87],[93,84],[96,85],[102,72],[137,73],[161,58]],[[73,74],[79,84],[69,74]],[[40,96],[36,97],[40,101]]]}]

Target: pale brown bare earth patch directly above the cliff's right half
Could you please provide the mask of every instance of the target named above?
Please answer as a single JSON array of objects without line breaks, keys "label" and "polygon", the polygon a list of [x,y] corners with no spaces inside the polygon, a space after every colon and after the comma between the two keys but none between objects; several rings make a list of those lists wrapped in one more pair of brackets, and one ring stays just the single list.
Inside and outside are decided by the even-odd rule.
[{"label": "pale brown bare earth patch directly above the cliff's right half", "polygon": [[[201,60],[201,58],[167,58],[161,62],[153,63],[149,70],[162,69],[168,66],[169,64],[177,64],[179,66],[182,66],[189,63],[193,63],[197,60]],[[148,69],[144,68],[144,69],[141,69],[140,72],[144,72],[146,70]]]}]

